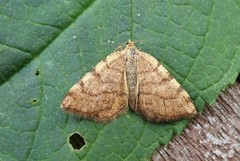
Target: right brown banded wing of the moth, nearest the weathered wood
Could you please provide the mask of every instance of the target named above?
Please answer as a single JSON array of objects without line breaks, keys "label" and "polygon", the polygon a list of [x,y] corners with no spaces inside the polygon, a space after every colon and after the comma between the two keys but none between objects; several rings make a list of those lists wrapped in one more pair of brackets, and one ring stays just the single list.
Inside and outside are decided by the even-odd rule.
[{"label": "right brown banded wing of the moth, nearest the weathered wood", "polygon": [[137,106],[133,109],[154,122],[191,118],[196,109],[188,93],[151,55],[137,54]]}]

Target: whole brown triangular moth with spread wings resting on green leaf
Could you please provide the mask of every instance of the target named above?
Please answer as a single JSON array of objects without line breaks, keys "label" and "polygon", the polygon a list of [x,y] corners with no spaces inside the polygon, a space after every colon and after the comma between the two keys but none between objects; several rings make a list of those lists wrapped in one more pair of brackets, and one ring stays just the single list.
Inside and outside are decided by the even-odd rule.
[{"label": "whole brown triangular moth with spread wings resting on green leaf", "polygon": [[191,118],[197,112],[188,93],[151,55],[129,41],[87,73],[68,92],[61,108],[108,122],[128,106],[153,122]]}]

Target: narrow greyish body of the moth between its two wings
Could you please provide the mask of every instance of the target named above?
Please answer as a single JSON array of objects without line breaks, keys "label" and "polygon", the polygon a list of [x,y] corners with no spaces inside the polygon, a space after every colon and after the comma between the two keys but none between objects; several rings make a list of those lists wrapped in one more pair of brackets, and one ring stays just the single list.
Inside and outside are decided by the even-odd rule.
[{"label": "narrow greyish body of the moth between its two wings", "polygon": [[136,91],[137,91],[137,61],[136,49],[130,48],[127,51],[126,60],[126,78],[128,86],[128,102],[131,108],[136,106]]}]

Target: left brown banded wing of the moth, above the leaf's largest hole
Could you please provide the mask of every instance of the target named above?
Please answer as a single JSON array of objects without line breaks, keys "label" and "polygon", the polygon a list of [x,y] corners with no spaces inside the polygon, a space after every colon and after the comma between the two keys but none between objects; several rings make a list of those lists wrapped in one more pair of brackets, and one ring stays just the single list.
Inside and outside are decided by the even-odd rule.
[{"label": "left brown banded wing of the moth, above the leaf's largest hole", "polygon": [[69,90],[61,108],[97,122],[115,119],[128,106],[125,75],[125,55],[116,51]]}]

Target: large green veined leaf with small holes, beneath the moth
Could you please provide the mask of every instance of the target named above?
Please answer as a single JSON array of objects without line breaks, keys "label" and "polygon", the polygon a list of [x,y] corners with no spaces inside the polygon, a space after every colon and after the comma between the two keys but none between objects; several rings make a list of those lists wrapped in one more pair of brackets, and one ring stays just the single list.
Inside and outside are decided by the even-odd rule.
[{"label": "large green veined leaf with small holes, beneath the moth", "polygon": [[[162,62],[198,111],[240,71],[240,2],[0,2],[0,160],[149,160],[188,120],[128,111],[99,124],[61,111],[69,88],[128,39]],[[69,137],[85,145],[74,150]]]}]

